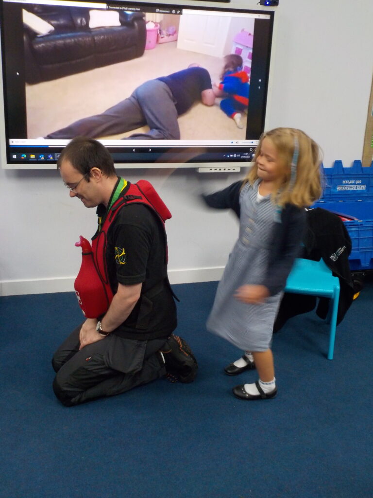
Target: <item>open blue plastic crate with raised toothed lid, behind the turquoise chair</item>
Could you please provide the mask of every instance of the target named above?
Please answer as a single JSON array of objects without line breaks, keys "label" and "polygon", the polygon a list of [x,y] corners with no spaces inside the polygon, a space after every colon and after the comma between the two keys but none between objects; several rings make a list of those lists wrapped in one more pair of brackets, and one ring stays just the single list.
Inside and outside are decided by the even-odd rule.
[{"label": "open blue plastic crate with raised toothed lid, behind the turquoise chair", "polygon": [[344,168],[342,161],[335,161],[323,171],[324,193],[313,207],[356,218],[344,222],[352,242],[350,267],[352,271],[373,269],[373,163],[363,168],[361,161],[354,161]]}]

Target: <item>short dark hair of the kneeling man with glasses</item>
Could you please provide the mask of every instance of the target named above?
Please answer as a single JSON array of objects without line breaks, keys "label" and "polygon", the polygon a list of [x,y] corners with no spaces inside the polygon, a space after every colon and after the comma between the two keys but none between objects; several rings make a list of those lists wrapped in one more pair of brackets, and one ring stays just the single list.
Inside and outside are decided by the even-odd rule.
[{"label": "short dark hair of the kneeling man with glasses", "polygon": [[[59,169],[62,161],[68,160],[73,167],[86,175],[92,168],[98,168],[106,176],[116,175],[114,161],[106,147],[94,138],[77,136],[62,150],[57,160]],[[89,177],[87,181],[90,181]]]}]

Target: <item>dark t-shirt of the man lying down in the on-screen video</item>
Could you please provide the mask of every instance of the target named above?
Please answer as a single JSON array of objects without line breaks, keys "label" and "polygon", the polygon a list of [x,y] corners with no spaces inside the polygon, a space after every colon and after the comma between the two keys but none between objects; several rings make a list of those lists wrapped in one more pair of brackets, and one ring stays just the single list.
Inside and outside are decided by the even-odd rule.
[{"label": "dark t-shirt of the man lying down in the on-screen video", "polygon": [[189,67],[157,78],[170,88],[176,100],[178,115],[184,114],[196,101],[201,100],[201,92],[212,88],[211,77],[203,67]]}]

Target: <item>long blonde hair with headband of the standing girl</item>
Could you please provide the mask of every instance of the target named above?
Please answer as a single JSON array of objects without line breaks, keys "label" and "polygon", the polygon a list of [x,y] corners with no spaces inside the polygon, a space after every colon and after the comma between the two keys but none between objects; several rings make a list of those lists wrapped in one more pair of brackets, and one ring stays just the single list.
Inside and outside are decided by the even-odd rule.
[{"label": "long blonde hair with headband of the standing girl", "polygon": [[[311,206],[322,194],[321,151],[317,143],[300,129],[275,128],[263,133],[253,159],[254,165],[243,184],[249,182],[253,185],[259,178],[257,158],[265,138],[269,138],[275,145],[283,169],[283,175],[271,196],[272,201],[280,207],[285,204],[294,204],[299,208]],[[291,174],[293,159],[297,160]]]}]

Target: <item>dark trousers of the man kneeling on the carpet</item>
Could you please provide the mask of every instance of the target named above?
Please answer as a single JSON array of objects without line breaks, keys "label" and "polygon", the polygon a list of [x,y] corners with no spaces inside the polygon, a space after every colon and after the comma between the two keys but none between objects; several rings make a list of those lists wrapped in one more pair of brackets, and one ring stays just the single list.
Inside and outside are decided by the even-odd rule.
[{"label": "dark trousers of the man kneeling on the carpet", "polygon": [[79,351],[77,327],[56,351],[53,390],[66,406],[113,396],[166,374],[159,350],[165,339],[140,341],[110,334]]}]

